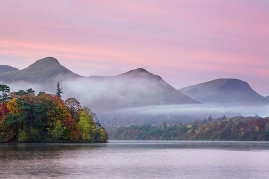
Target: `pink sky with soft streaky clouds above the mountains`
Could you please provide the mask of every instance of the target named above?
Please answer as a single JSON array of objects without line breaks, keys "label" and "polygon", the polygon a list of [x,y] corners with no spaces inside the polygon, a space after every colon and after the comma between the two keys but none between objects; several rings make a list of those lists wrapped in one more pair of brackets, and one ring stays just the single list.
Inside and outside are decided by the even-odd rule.
[{"label": "pink sky with soft streaky clouds above the mountains", "polygon": [[2,0],[0,64],[83,75],[142,67],[175,88],[237,78],[269,95],[268,0]]}]

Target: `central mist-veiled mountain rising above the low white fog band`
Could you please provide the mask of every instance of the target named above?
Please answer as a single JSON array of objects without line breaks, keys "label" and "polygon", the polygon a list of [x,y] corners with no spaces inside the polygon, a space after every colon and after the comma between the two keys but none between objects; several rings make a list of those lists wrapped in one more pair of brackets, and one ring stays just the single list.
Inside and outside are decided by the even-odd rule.
[{"label": "central mist-veiled mountain rising above the low white fog band", "polygon": [[[115,110],[147,105],[200,104],[143,68],[117,76],[90,76],[66,81],[67,95],[78,93],[78,99],[95,110]],[[84,92],[82,89],[87,89]]]}]

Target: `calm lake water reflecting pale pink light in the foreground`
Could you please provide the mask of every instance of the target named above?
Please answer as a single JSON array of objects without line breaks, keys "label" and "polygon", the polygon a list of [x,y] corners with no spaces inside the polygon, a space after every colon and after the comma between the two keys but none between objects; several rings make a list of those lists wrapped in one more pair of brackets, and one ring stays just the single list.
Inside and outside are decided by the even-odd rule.
[{"label": "calm lake water reflecting pale pink light in the foreground", "polygon": [[0,144],[0,178],[269,179],[269,142]]}]

